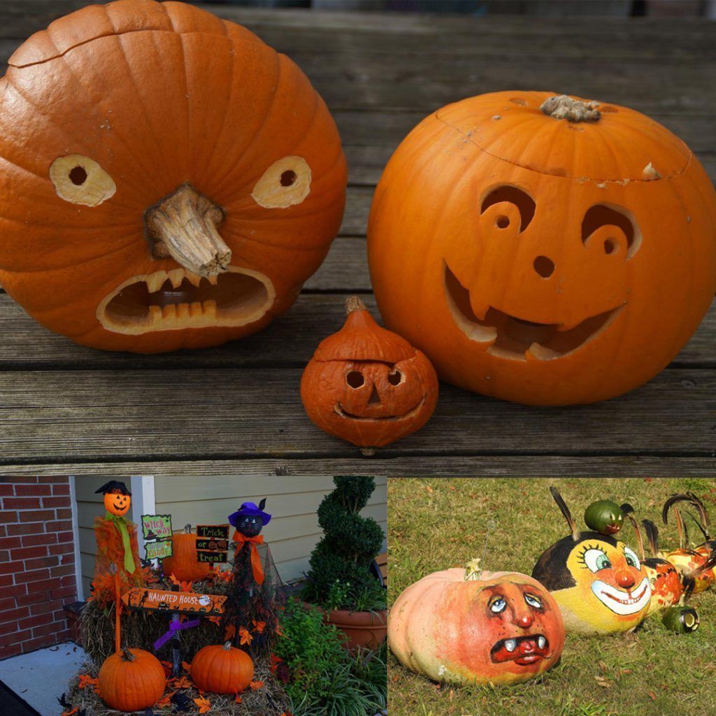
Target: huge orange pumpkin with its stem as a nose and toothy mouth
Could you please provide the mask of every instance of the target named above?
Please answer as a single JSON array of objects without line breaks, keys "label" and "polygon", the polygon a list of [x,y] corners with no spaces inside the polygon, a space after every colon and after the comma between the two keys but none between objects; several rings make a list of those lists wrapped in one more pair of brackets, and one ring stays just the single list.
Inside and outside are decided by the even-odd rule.
[{"label": "huge orange pumpkin with its stem as a nose and toothy mouth", "polygon": [[0,282],[35,319],[155,353],[258,331],[341,222],[346,163],[309,80],[189,4],[88,6],[0,79]]}]

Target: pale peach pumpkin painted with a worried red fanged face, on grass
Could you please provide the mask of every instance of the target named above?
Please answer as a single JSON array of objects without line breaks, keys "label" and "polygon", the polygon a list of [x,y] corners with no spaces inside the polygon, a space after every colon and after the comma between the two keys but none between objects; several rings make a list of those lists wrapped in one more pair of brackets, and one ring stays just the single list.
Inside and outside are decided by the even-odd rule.
[{"label": "pale peach pumpkin painted with a worried red fanged face, on grass", "polygon": [[446,569],[395,601],[388,644],[408,669],[440,682],[516,684],[553,667],[564,645],[559,608],[516,572]]}]

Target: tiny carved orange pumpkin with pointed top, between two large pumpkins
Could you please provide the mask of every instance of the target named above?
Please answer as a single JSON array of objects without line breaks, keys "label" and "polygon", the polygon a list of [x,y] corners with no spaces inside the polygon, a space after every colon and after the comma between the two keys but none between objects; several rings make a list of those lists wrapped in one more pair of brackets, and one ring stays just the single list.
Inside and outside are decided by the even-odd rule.
[{"label": "tiny carved orange pumpkin with pointed top, between two large pumpkins", "polygon": [[301,377],[313,422],[362,447],[388,445],[425,425],[437,403],[430,361],[381,328],[363,302],[346,301],[342,329],[324,339]]}]

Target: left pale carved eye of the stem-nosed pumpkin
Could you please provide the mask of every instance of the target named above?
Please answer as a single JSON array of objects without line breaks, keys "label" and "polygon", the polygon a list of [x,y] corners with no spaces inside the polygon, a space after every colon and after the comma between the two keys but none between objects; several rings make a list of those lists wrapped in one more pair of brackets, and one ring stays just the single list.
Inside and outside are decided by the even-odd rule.
[{"label": "left pale carved eye of the stem-nosed pumpkin", "polygon": [[71,204],[97,206],[117,191],[112,177],[94,159],[81,154],[58,157],[50,165],[49,178],[59,198]]}]

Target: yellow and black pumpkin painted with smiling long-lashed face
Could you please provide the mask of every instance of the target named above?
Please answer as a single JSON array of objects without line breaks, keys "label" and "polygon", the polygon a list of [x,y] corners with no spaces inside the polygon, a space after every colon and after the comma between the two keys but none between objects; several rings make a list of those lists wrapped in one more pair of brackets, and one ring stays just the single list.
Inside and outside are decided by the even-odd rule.
[{"label": "yellow and black pumpkin painted with smiling long-lashed face", "polygon": [[649,610],[652,586],[637,554],[624,542],[596,532],[553,544],[532,576],[551,591],[568,632],[627,632]]}]

